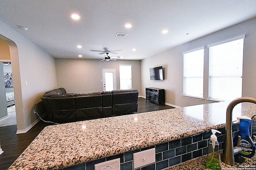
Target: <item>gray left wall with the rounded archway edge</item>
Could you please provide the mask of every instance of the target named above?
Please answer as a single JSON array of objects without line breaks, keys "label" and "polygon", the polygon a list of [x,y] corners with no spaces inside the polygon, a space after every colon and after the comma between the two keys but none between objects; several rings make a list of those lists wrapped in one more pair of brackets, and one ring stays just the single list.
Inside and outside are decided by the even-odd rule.
[{"label": "gray left wall with the rounded archway edge", "polygon": [[[44,92],[57,87],[55,60],[32,41],[0,21],[0,38],[10,48],[17,119],[17,133],[33,126],[33,113]],[[25,86],[25,81],[28,85]]]}]

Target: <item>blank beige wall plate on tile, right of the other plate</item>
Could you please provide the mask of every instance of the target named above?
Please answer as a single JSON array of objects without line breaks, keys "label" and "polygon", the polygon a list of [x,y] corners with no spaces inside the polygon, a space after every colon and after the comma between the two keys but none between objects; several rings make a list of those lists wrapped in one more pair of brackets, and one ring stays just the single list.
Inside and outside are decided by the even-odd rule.
[{"label": "blank beige wall plate on tile, right of the other plate", "polygon": [[156,162],[156,149],[148,149],[141,152],[136,152],[133,154],[133,168],[139,168],[148,164]]}]

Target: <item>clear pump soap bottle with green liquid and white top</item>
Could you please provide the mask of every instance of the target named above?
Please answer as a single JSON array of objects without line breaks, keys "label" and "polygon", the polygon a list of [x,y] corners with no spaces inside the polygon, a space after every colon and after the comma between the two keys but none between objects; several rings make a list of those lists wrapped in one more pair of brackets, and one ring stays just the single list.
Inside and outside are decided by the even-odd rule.
[{"label": "clear pump soap bottle with green liquid and white top", "polygon": [[206,167],[211,170],[221,170],[220,166],[220,148],[215,133],[221,133],[212,129],[212,135],[208,143],[208,153],[206,158]]}]

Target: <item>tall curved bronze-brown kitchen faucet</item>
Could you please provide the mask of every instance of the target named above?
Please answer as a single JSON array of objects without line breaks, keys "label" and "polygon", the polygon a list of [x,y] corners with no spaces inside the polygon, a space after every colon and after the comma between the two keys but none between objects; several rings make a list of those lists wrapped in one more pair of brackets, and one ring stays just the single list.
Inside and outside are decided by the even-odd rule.
[{"label": "tall curved bronze-brown kitchen faucet", "polygon": [[237,104],[240,104],[242,102],[250,102],[250,103],[256,104],[256,98],[250,98],[250,97],[238,98],[238,99],[235,99],[232,102],[230,102],[230,104],[227,107],[226,132],[225,132],[225,141],[224,141],[224,147],[223,147],[222,161],[229,165],[235,164],[234,155],[239,153],[237,151],[238,150],[237,147],[235,148],[235,153],[234,153],[234,148],[233,148],[232,111]]}]

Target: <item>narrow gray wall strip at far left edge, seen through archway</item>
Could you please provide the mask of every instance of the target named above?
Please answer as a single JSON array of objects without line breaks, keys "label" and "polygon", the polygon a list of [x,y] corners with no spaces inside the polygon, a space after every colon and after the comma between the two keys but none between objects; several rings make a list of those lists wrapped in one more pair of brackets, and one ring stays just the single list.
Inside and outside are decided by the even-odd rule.
[{"label": "narrow gray wall strip at far left edge, seen through archway", "polygon": [[4,84],[4,67],[0,62],[0,119],[7,116],[7,105],[5,96],[5,84]]}]

